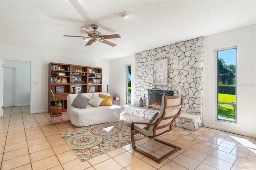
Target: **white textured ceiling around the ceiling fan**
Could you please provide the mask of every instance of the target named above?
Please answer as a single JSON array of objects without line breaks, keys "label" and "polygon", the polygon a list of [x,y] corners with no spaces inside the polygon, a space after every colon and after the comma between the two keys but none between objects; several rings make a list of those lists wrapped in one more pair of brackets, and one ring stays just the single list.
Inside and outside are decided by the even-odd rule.
[{"label": "white textured ceiling around the ceiling fan", "polygon": [[[2,1],[1,45],[114,59],[256,23],[256,1]],[[119,16],[122,11],[129,18]],[[84,46],[80,26],[119,34],[111,47]]]}]

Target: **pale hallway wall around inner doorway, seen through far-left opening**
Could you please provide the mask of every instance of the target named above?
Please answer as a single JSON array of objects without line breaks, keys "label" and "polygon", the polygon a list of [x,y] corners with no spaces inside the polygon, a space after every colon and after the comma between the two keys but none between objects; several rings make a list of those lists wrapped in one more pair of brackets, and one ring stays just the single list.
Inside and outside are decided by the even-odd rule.
[{"label": "pale hallway wall around inner doorway, seen through far-left opening", "polygon": [[16,69],[15,106],[30,105],[30,62],[4,60],[4,67]]}]

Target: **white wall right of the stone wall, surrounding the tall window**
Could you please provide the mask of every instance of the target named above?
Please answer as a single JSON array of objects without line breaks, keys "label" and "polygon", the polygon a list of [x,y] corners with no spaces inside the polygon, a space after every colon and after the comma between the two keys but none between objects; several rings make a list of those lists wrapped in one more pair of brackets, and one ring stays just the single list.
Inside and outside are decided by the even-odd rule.
[{"label": "white wall right of the stone wall, surrounding the tall window", "polygon": [[[255,32],[251,25],[204,37],[204,126],[256,137]],[[232,46],[237,46],[237,124],[215,121],[214,109],[214,49]]]}]

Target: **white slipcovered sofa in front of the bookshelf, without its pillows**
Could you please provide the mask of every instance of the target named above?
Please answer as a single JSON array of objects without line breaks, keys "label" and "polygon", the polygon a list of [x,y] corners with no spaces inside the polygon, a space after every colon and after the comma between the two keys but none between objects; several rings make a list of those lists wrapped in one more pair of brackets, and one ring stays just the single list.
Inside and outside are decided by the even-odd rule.
[{"label": "white slipcovered sofa in front of the bookshelf, without its pillows", "polygon": [[[98,95],[99,93],[95,93]],[[109,93],[101,93],[110,96]],[[92,93],[82,93],[88,99],[92,97]],[[120,119],[121,107],[116,105],[93,107],[88,104],[86,109],[78,109],[71,106],[77,94],[69,94],[67,99],[68,118],[71,123],[77,127],[106,123]]]}]

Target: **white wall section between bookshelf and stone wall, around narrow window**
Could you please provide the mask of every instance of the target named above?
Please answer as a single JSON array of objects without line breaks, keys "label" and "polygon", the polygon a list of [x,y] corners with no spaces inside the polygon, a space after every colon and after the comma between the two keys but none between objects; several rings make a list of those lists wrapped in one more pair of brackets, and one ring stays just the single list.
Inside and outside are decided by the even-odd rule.
[{"label": "white wall section between bookshelf and stone wall, around narrow window", "polygon": [[110,61],[110,84],[109,92],[112,96],[120,96],[120,106],[124,106],[125,101],[125,65],[132,65],[132,93],[131,93],[131,104],[134,103],[134,68],[135,59],[134,55],[122,57]]}]

